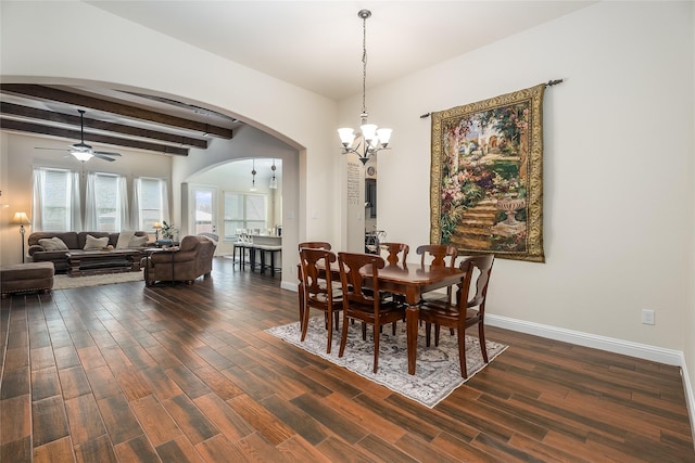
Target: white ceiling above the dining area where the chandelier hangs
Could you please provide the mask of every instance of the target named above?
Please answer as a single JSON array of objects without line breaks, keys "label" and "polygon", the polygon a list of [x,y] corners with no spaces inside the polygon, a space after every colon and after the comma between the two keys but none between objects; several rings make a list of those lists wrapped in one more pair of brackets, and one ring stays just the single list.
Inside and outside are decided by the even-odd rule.
[{"label": "white ceiling above the dining area where the chandelier hangs", "polygon": [[594,1],[88,1],[330,99],[484,47]]}]

